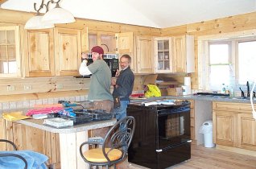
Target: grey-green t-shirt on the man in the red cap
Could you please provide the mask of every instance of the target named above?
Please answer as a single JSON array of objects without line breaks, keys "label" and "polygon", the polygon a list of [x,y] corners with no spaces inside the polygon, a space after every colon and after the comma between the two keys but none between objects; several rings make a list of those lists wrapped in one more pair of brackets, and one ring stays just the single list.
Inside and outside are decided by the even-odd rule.
[{"label": "grey-green t-shirt on the man in the red cap", "polygon": [[111,71],[104,60],[95,60],[88,66],[92,72],[88,100],[110,100],[113,101],[110,93]]}]

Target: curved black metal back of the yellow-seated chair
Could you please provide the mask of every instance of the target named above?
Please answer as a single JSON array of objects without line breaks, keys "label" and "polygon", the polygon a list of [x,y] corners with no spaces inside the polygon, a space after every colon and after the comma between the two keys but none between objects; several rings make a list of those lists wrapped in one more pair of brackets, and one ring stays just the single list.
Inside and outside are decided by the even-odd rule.
[{"label": "curved black metal back of the yellow-seated chair", "polygon": [[[111,163],[117,163],[122,161],[128,154],[128,147],[134,136],[135,119],[132,116],[127,116],[119,120],[112,126],[108,133],[105,135],[105,139],[102,145],[103,154],[108,160],[109,165]],[[105,149],[109,148],[109,149]],[[108,154],[111,150],[118,149],[122,151],[122,159],[111,162],[108,158]]]}]

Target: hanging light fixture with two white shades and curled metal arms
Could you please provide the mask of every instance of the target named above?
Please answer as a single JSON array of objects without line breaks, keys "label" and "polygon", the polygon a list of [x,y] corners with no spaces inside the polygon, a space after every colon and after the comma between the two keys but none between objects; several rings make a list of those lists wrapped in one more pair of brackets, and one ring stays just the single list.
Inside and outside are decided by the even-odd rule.
[{"label": "hanging light fixture with two white shades and curled metal arms", "polygon": [[[68,10],[64,10],[60,7],[60,0],[57,2],[50,0],[47,4],[43,2],[44,0],[42,0],[38,10],[36,9],[36,3],[34,3],[34,9],[37,13],[27,21],[25,29],[47,29],[54,27],[54,23],[73,23],[76,21]],[[55,8],[52,10],[49,10],[50,3],[56,3]],[[46,7],[46,14],[41,15],[39,11],[43,9],[43,6]]]}]

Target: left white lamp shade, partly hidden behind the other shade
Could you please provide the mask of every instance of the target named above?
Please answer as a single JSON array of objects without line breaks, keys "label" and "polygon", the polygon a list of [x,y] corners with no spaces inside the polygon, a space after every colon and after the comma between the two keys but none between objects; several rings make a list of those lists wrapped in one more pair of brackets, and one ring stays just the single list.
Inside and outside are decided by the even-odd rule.
[{"label": "left white lamp shade, partly hidden behind the other shade", "polygon": [[53,23],[42,21],[43,16],[35,15],[29,19],[25,25],[25,29],[47,29],[54,27]]}]

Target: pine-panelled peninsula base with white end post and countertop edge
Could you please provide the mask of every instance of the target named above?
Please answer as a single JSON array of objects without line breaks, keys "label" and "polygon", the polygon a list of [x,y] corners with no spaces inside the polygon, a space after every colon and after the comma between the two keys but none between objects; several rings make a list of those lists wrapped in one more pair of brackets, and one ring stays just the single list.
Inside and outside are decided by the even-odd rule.
[{"label": "pine-panelled peninsula base with white end post and countertop edge", "polygon": [[[116,119],[88,122],[62,129],[45,126],[43,120],[32,118],[16,122],[2,119],[2,122],[6,122],[6,139],[14,141],[15,144],[18,143],[19,150],[29,148],[39,151],[50,156],[51,162],[49,164],[57,165],[56,163],[60,163],[61,169],[84,169],[88,168],[89,165],[81,158],[79,148],[82,142],[88,141],[88,130],[113,126]],[[13,131],[10,132],[10,130]],[[39,145],[38,142],[42,144]],[[85,146],[84,149],[88,149],[88,146]]]}]

